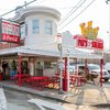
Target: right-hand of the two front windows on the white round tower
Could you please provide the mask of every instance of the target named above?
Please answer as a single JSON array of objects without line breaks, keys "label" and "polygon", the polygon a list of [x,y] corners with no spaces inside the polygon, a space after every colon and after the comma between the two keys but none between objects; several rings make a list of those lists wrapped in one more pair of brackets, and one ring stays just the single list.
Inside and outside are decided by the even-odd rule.
[{"label": "right-hand of the two front windows on the white round tower", "polygon": [[46,20],[45,21],[45,34],[47,34],[47,35],[52,35],[53,34],[53,30],[52,30],[53,24],[52,23],[53,22],[51,20]]}]

